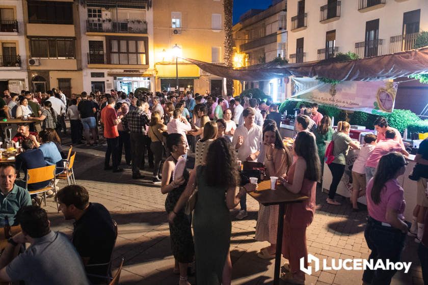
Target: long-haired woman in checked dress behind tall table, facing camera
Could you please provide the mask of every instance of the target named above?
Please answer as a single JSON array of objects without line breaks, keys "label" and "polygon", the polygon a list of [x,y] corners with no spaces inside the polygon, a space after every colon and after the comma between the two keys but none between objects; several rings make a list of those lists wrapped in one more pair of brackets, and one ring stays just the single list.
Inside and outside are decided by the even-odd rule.
[{"label": "long-haired woman in checked dress behind tall table, facing camera", "polygon": [[[275,121],[263,128],[263,144],[265,149],[264,165],[268,170],[268,177],[285,175],[291,165],[291,156],[282,142]],[[259,258],[275,258],[278,214],[278,205],[263,206],[259,204],[255,239],[270,243],[270,246],[260,249],[260,252],[257,253]]]}]

